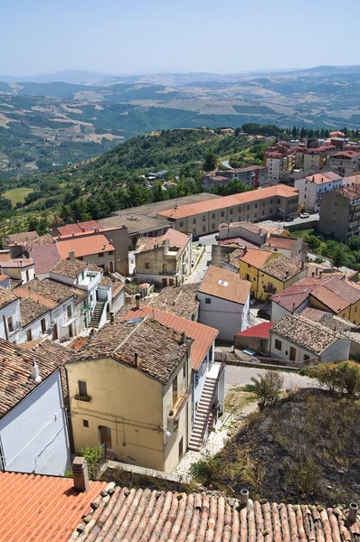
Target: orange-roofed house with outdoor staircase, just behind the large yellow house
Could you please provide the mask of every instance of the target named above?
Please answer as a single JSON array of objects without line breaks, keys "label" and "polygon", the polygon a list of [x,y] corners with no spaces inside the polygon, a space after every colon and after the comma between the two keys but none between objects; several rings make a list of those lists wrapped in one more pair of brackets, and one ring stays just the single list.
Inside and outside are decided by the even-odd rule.
[{"label": "orange-roofed house with outdoor staircase, just behind the large yellow house", "polygon": [[192,345],[192,434],[189,449],[199,451],[208,435],[223,414],[224,372],[223,367],[214,363],[214,341],[217,330],[202,323],[193,322],[175,314],[165,313],[150,305],[139,303],[133,307],[124,307],[125,315],[120,319],[133,320],[149,316],[163,323],[176,332],[193,339]]}]

